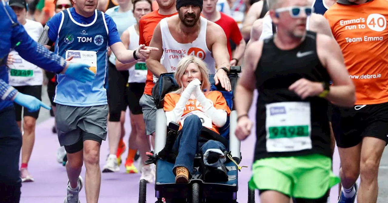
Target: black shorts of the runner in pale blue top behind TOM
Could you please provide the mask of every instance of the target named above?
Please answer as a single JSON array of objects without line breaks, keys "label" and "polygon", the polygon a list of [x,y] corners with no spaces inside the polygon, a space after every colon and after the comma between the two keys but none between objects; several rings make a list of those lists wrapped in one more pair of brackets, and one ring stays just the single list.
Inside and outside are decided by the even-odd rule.
[{"label": "black shorts of the runner in pale blue top behind TOM", "polygon": [[121,111],[126,111],[128,106],[127,84],[128,70],[118,71],[108,61],[108,106],[109,121],[120,121]]}]

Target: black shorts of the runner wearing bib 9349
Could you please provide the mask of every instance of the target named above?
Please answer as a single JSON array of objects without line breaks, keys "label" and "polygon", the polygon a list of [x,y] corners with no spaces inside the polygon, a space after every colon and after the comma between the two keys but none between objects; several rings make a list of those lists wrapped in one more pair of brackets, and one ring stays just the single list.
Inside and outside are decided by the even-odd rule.
[{"label": "black shorts of the runner wearing bib 9349", "polygon": [[[42,101],[42,85],[33,85],[33,86],[17,86],[15,87],[17,91],[23,94],[31,95],[33,97],[36,97],[40,101]],[[15,106],[15,113],[16,113],[16,121],[22,120],[22,106],[19,104],[14,103]],[[35,112],[29,112],[28,109],[24,108],[23,111],[23,117],[24,116],[31,116],[35,119],[39,116],[39,110]]]}]

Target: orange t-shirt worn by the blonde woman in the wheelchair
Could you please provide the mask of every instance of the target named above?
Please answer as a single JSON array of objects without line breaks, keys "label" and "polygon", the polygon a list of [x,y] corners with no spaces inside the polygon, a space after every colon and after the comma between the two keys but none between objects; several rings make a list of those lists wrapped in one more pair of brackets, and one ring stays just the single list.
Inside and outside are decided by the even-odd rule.
[{"label": "orange t-shirt worn by the blonde woman in the wheelchair", "polygon": [[[226,111],[228,115],[230,114],[230,109],[225,101],[225,98],[223,98],[221,92],[211,91],[209,92],[208,95],[205,94],[205,97],[209,99],[211,102],[213,102],[213,106],[216,109],[223,109]],[[175,104],[178,103],[179,98],[180,98],[179,94],[175,94],[175,93],[166,94],[163,109],[165,111],[172,111],[175,107]],[[219,134],[218,127],[215,126],[213,122],[211,122],[211,119],[208,116],[206,116],[206,114],[202,111],[202,109],[203,107],[197,101],[197,99],[189,99],[186,102],[185,109],[183,111],[182,117],[180,118],[179,130],[182,129],[182,125],[183,125],[182,123],[184,123],[184,119],[191,114],[195,114],[199,118],[201,118],[202,125],[204,127],[207,127]]]}]

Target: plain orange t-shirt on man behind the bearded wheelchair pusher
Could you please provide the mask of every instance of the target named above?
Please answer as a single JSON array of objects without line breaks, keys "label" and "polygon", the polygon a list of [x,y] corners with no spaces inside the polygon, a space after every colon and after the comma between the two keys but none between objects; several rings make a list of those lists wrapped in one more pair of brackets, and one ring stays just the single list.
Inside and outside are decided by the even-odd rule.
[{"label": "plain orange t-shirt on man behind the bearded wheelchair pusher", "polygon": [[[139,20],[139,44],[145,44],[149,46],[151,42],[152,35],[154,34],[154,29],[158,25],[161,19],[165,17],[170,17],[177,15],[178,13],[171,15],[160,15],[159,10],[154,10],[148,14],[145,14]],[[144,94],[152,95],[152,87],[154,87],[154,80],[152,79],[151,71],[147,70],[147,79],[145,80]]]}]

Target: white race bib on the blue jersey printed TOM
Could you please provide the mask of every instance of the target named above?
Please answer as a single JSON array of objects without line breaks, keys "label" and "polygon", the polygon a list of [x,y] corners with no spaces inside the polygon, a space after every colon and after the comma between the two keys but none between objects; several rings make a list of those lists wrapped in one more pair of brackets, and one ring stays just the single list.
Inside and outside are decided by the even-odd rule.
[{"label": "white race bib on the blue jersey printed TOM", "polygon": [[97,73],[97,52],[95,51],[81,51],[81,50],[67,50],[66,58],[73,56],[71,62],[83,63],[90,66],[90,70]]}]

